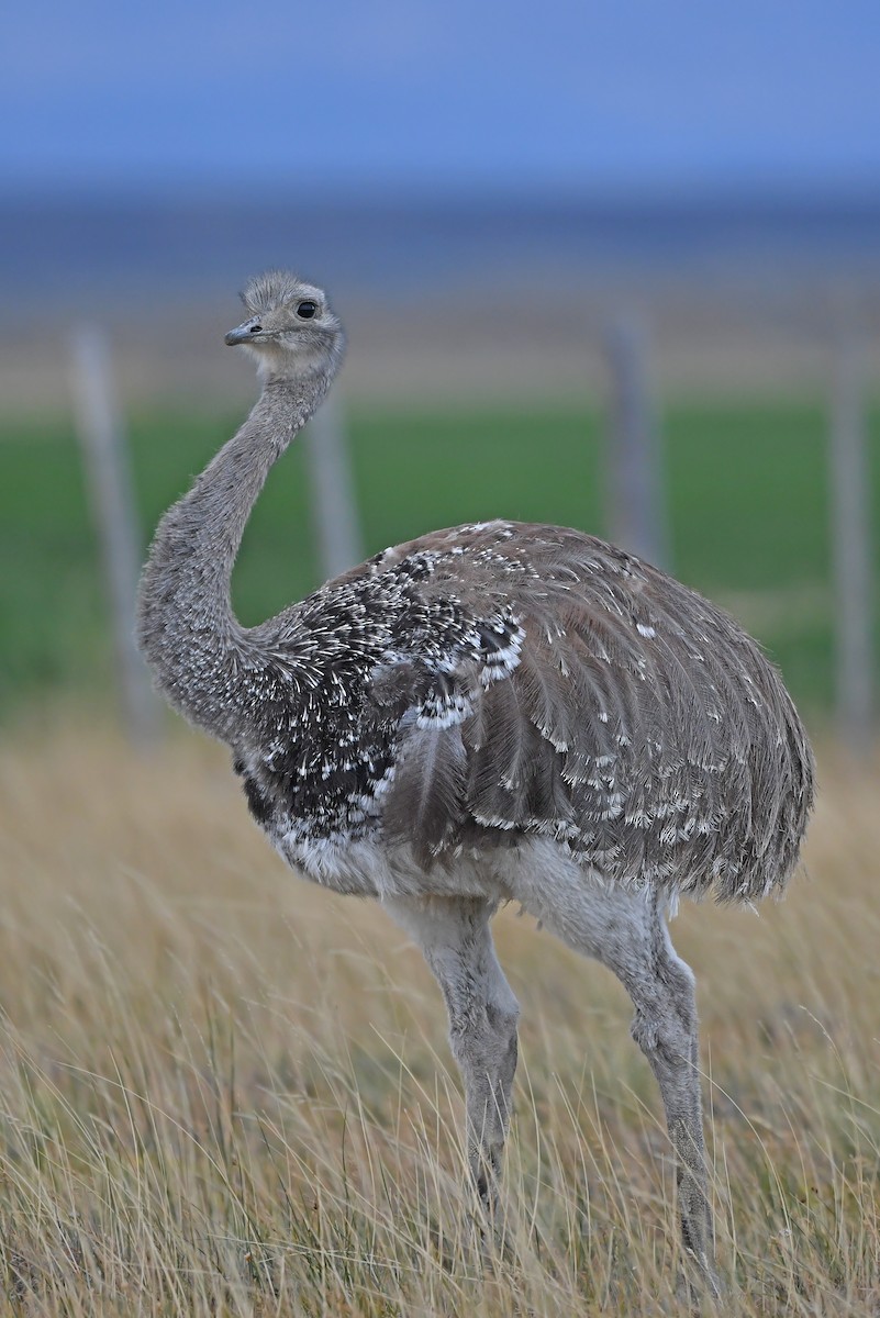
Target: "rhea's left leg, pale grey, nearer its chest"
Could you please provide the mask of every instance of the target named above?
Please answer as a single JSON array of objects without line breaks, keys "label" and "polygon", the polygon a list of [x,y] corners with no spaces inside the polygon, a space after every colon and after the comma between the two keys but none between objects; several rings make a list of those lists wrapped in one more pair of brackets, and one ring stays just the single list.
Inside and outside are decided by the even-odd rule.
[{"label": "rhea's left leg, pale grey, nearer its chest", "polygon": [[447,1004],[465,1090],[468,1162],[485,1217],[503,1238],[498,1178],[516,1070],[519,1004],[495,957],[495,904],[474,898],[394,898],[383,905],[422,948]]}]

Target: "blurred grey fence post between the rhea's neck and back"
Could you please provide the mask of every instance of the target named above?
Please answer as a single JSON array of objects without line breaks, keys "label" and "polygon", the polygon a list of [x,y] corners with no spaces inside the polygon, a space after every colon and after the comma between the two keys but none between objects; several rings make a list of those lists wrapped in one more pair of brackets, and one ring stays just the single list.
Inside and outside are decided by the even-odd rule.
[{"label": "blurred grey fence post between the rhea's neck and back", "polygon": [[324,580],[362,558],[361,527],[345,420],[336,394],[317,409],[303,435],[312,490],[312,521]]}]

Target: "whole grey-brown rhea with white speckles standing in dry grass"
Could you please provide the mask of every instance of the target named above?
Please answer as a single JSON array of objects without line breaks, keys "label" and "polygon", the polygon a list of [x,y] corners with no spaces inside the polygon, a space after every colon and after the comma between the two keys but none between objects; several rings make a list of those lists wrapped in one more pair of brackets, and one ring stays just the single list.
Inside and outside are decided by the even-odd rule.
[{"label": "whole grey-brown rhea with white speckles standing in dry grass", "polygon": [[245,523],[344,352],[325,294],[298,277],[260,275],[242,299],[225,341],[253,355],[262,391],[155,534],[138,601],[155,681],[229,746],[283,859],[375,898],[422,948],[489,1220],[519,1015],[495,911],[520,903],[614,971],[660,1087],[684,1246],[711,1281],[694,977],[667,917],[682,894],[784,887],[813,800],[794,706],[726,613],[559,526],[433,531],[241,626]]}]

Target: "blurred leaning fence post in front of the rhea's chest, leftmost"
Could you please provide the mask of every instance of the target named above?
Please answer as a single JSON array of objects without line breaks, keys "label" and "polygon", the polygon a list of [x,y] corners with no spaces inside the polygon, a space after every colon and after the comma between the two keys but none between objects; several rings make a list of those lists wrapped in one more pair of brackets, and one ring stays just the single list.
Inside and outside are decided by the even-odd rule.
[{"label": "blurred leaning fence post in front of the rhea's chest, leftmost", "polygon": [[134,598],[141,543],[123,420],[113,391],[105,335],[79,326],[72,340],[76,431],[100,540],[111,609],[123,716],[132,742],[144,746],[157,729],[157,701],[134,639]]}]

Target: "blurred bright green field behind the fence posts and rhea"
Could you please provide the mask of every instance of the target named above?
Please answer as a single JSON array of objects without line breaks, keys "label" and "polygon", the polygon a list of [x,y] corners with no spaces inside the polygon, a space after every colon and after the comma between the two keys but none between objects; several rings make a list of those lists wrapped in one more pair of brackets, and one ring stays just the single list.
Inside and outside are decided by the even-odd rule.
[{"label": "blurred bright green field behind the fence posts and rhea", "polygon": [[[233,414],[130,419],[145,534],[232,432]],[[831,695],[826,419],[809,402],[678,405],[664,416],[672,568],[727,605],[797,700]],[[365,550],[466,519],[552,521],[603,534],[602,423],[566,410],[354,411]],[[880,411],[871,416],[873,457]],[[872,463],[875,505],[880,463]],[[112,680],[95,535],[69,422],[0,422],[0,710]],[[295,448],[273,472],[236,572],[245,622],[319,584]]]}]

